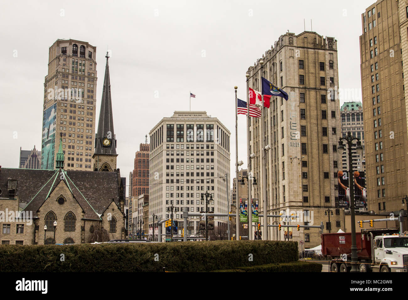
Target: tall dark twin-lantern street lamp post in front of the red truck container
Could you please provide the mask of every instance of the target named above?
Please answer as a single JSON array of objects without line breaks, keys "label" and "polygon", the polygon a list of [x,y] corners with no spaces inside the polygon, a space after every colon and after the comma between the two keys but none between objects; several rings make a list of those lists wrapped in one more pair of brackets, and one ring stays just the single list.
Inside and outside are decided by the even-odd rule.
[{"label": "tall dark twin-lantern street lamp post in front of the red truck container", "polygon": [[354,205],[354,172],[353,172],[353,155],[352,145],[353,140],[357,141],[356,151],[361,156],[363,148],[361,147],[361,141],[359,138],[355,138],[348,131],[345,138],[339,138],[339,146],[337,147],[337,153],[340,155],[344,152],[343,140],[348,144],[348,183],[350,186],[350,217],[351,217],[351,272],[357,272],[357,242],[356,242],[356,224],[355,224],[355,205]]}]

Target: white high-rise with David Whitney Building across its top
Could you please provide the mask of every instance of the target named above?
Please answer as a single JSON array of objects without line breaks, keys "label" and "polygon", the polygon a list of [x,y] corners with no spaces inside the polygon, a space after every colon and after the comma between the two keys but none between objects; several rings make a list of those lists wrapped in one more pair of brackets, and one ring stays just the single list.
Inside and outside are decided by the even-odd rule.
[{"label": "white high-rise with David Whitney Building across its top", "polygon": [[[222,177],[230,173],[230,132],[205,111],[175,111],[150,131],[149,222],[152,214],[169,218],[167,207],[175,206],[173,220],[184,222],[183,211],[228,213],[228,190]],[[133,174],[134,175],[134,174]],[[226,217],[215,217],[214,226],[225,226]],[[199,230],[200,217],[191,217],[188,235]],[[164,232],[164,231],[162,231]],[[179,226],[181,234],[182,227]]]}]

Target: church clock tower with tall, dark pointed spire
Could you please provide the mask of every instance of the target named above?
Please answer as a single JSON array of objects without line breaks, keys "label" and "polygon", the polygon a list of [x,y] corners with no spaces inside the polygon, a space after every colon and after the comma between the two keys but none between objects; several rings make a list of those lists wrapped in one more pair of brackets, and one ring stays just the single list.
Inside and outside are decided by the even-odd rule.
[{"label": "church clock tower with tall, dark pointed spire", "polygon": [[101,110],[99,113],[98,131],[95,134],[95,153],[93,169],[95,171],[113,172],[116,169],[116,136],[113,131],[111,82],[109,79],[109,55],[106,53],[106,68],[103,82]]}]

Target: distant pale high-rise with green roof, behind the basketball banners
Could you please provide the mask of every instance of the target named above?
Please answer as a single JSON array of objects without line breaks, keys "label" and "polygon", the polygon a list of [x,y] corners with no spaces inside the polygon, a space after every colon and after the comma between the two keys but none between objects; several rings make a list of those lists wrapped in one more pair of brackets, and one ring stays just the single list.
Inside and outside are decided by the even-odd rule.
[{"label": "distant pale high-rise with green roof, behind the basketball banners", "polygon": [[[356,150],[353,150],[353,170],[366,171],[366,156],[364,147],[364,127],[363,127],[363,105],[361,102],[344,102],[340,107],[341,114],[341,134],[346,136],[350,131],[355,138],[361,140],[361,147],[363,147],[363,155],[360,157]],[[356,144],[357,146],[357,144]],[[354,146],[353,148],[355,149]],[[348,170],[348,153],[344,151],[341,156],[341,168],[343,171]]]}]

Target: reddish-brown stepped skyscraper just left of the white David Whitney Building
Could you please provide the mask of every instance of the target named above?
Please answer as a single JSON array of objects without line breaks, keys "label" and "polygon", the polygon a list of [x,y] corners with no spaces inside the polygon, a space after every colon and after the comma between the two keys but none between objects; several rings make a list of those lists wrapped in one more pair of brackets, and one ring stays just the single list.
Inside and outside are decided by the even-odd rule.
[{"label": "reddish-brown stepped skyscraper just left of the white David Whitney Building", "polygon": [[135,154],[132,195],[136,198],[142,194],[149,194],[149,153],[150,145],[146,136],[146,142],[140,144],[139,151]]}]

